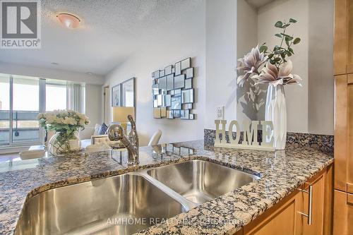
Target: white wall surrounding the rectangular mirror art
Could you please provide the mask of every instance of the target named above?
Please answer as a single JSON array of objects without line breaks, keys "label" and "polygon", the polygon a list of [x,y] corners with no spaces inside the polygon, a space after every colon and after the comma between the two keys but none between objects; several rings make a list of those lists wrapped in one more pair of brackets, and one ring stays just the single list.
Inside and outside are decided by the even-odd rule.
[{"label": "white wall surrounding the rectangular mirror art", "polygon": [[[184,12],[172,25],[156,29],[154,38],[106,76],[106,84],[121,83],[136,77],[136,125],[140,145],[147,145],[151,135],[161,129],[160,143],[203,139],[205,119],[205,3]],[[196,88],[196,120],[153,119],[151,73],[164,66],[192,57]]]}]

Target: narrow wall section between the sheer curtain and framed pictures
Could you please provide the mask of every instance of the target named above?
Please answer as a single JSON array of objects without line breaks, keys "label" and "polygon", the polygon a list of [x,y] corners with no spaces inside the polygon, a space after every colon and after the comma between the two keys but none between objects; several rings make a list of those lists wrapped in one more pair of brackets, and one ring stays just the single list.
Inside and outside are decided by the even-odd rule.
[{"label": "narrow wall section between the sheer curtain and framed pictures", "polygon": [[95,123],[102,123],[102,86],[85,85],[85,114],[90,119],[89,126],[95,126]]}]

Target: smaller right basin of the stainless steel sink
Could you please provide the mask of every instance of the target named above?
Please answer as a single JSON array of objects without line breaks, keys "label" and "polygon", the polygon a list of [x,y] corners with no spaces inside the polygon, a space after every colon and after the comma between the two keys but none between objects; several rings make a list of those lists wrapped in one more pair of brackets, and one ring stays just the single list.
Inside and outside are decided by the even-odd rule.
[{"label": "smaller right basin of the stainless steel sink", "polygon": [[258,179],[243,171],[202,160],[149,169],[147,174],[196,204],[213,200]]}]

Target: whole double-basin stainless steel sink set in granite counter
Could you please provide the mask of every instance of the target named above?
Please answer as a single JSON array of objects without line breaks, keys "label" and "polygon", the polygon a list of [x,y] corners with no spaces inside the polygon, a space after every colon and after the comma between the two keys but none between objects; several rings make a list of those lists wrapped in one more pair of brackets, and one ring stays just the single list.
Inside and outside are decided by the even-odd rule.
[{"label": "whole double-basin stainless steel sink set in granite counter", "polygon": [[54,188],[26,201],[16,234],[133,234],[256,179],[196,159]]}]

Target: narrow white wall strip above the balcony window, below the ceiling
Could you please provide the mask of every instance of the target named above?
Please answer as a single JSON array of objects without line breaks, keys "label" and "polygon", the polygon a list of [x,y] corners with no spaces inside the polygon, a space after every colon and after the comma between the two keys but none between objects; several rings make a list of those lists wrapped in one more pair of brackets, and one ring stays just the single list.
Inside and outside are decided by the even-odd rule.
[{"label": "narrow white wall strip above the balcony window, below the ceiling", "polygon": [[78,73],[56,68],[44,68],[34,66],[22,66],[18,64],[8,64],[0,62],[0,73],[16,74],[22,76],[32,76],[40,78],[52,78],[59,80],[71,80],[79,83],[97,84],[104,83],[104,77],[95,74]]}]

